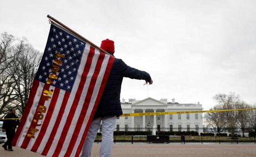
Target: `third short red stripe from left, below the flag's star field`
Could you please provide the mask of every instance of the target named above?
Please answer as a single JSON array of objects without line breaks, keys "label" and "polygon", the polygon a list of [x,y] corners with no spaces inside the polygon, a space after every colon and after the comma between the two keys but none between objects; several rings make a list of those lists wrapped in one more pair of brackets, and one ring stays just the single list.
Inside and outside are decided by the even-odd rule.
[{"label": "third short red stripe from left, below the flag's star field", "polygon": [[55,108],[55,105],[56,105],[56,102],[57,102],[57,99],[58,99],[58,96],[59,96],[59,91],[60,91],[60,88],[55,88],[52,100],[51,100],[50,105],[49,105],[49,108],[47,108],[48,112],[47,112],[46,117],[43,121],[43,125],[40,129],[39,134],[37,135],[37,139],[34,142],[33,147],[31,148],[32,152],[37,152],[37,149],[38,149],[38,147],[39,147],[39,145],[40,145],[40,143],[43,139],[43,136],[46,133],[46,129],[47,129],[47,127],[49,125],[49,122],[50,122],[50,119],[53,115],[53,111],[54,111],[54,108]]}]

